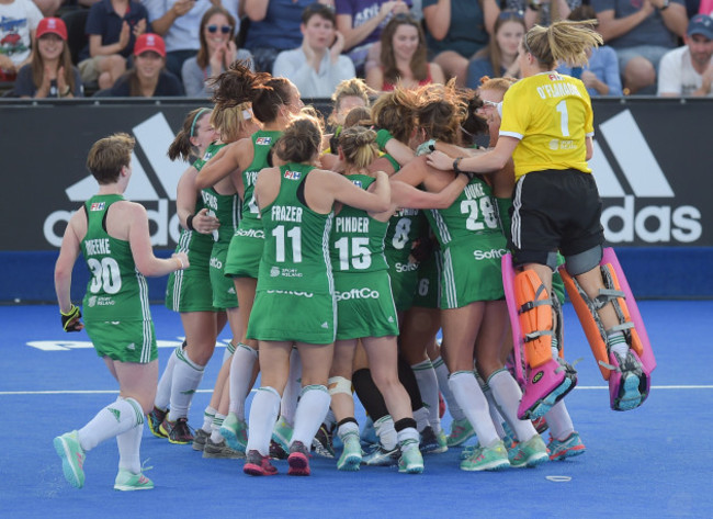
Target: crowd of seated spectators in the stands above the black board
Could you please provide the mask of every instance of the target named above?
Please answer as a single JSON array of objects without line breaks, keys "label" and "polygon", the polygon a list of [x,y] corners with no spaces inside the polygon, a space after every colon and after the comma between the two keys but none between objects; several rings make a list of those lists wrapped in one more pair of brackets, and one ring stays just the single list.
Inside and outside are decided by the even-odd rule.
[{"label": "crowd of seated spectators in the stands above the black board", "polygon": [[[604,45],[558,69],[591,95],[711,97],[713,0],[0,0],[3,95],[208,98],[236,59],[329,98],[518,79],[522,34],[597,20]],[[139,45],[140,42],[140,45]]]}]

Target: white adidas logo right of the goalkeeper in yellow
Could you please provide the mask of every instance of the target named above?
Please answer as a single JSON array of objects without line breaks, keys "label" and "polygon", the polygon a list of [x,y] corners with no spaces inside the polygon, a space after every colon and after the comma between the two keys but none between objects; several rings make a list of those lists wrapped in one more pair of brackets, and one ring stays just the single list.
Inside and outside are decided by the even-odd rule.
[{"label": "white adidas logo right of the goalkeeper in yellow", "polygon": [[674,199],[675,194],[629,110],[600,124],[597,138],[607,143],[629,184],[627,189],[622,185],[595,140],[589,166],[599,193],[602,198],[623,199],[623,205],[611,205],[602,212],[601,224],[608,241],[627,244],[641,239],[648,244],[688,244],[701,237],[703,227],[698,207],[642,203],[642,199]]}]

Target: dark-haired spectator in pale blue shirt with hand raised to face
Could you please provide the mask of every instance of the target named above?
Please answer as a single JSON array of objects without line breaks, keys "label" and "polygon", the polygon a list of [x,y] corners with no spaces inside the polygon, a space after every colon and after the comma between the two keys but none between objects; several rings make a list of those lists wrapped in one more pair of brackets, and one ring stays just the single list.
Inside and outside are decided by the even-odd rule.
[{"label": "dark-haired spectator in pale blue shirt with hand raised to face", "polygon": [[335,11],[314,3],[302,13],[302,46],[278,55],[273,75],[290,79],[306,98],[329,98],[344,79],[356,72],[351,59],[342,56],[344,36],[336,29]]}]

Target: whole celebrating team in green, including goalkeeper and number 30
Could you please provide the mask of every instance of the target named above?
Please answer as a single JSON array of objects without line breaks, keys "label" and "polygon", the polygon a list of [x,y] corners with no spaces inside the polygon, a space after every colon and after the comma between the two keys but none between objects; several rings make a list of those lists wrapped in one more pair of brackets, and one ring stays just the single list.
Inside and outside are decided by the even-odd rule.
[{"label": "whole celebrating team in green, including goalkeeper and number 30", "polygon": [[[169,149],[192,159],[169,259],[154,256],[145,210],[123,198],[133,139],[94,144],[99,193],[72,216],[55,281],[65,329],[86,325],[121,392],[55,439],[69,483],[81,487],[86,452],[116,437],[114,487],[152,488],[139,459],[145,416],[154,435],[204,458],[245,459],[253,476],[276,474],[275,458],[309,475],[313,450],[341,471],[418,474],[423,454],[473,436],[464,471],[581,454],[564,403],[577,382],[564,359],[565,286],[612,409],[643,404],[655,360],[602,247],[589,95],[554,71],[599,43],[587,23],[535,26],[520,44],[523,79],[477,92],[397,87],[372,103],[361,80],[343,81],[330,134],[290,80],[235,63],[214,80],[214,106],[188,114]],[[88,245],[97,240],[105,246]],[[83,324],[69,300],[80,249],[93,274]],[[185,341],[159,381],[145,277],[168,273],[166,304]],[[89,304],[98,297],[112,304]],[[192,395],[226,324],[233,339],[192,431]],[[353,393],[373,424],[366,449]]]}]

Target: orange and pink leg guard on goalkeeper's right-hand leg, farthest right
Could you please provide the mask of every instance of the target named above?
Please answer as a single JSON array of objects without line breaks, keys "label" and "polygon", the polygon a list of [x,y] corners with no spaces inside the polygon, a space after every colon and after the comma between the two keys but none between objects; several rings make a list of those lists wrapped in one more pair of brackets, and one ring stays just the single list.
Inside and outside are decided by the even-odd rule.
[{"label": "orange and pink leg guard on goalkeeper's right-hand leg, farthest right", "polygon": [[[636,301],[612,248],[604,249],[600,269],[604,289],[593,300],[587,296],[577,280],[564,268],[561,268],[561,273],[599,370],[609,382],[611,408],[633,409],[642,405],[648,396],[650,373],[656,368],[656,359]],[[612,303],[619,317],[619,325],[611,329],[604,329],[598,314],[598,309],[608,303]],[[607,336],[612,331],[624,334],[630,347],[625,359],[609,350]]]}]

